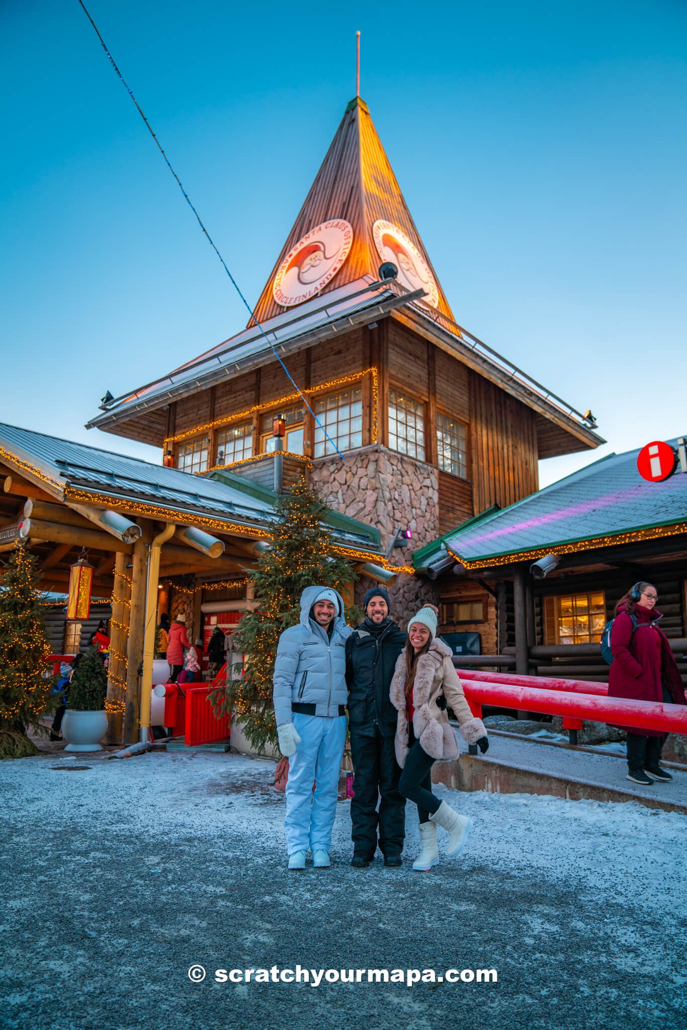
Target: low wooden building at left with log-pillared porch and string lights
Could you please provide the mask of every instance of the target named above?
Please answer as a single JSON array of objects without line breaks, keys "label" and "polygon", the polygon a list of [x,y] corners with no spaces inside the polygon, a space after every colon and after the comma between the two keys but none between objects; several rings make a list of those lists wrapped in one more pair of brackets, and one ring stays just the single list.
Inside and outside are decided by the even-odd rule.
[{"label": "low wooden building at left with log-pillared porch and string lights", "polygon": [[[227,471],[194,476],[7,424],[0,424],[0,552],[25,540],[46,593],[66,591],[70,565],[88,551],[92,596],[111,603],[109,740],[138,740],[139,724],[141,732],[148,726],[142,701],[150,696],[160,612],[183,612],[194,639],[204,608],[245,610],[246,571],[270,540],[277,495]],[[336,553],[392,577],[377,529],[339,513],[330,527]],[[89,623],[65,624],[62,606],[54,611],[55,653],[82,650],[81,638],[109,614],[98,605]]]}]

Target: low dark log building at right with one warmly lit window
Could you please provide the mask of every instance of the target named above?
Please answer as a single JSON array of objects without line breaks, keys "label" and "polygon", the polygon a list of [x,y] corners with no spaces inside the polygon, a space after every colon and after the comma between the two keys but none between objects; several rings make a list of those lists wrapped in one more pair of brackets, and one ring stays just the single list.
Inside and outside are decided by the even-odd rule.
[{"label": "low dark log building at right with one warmly lit window", "polygon": [[638,453],[611,454],[417,551],[443,631],[479,633],[482,654],[518,673],[606,682],[604,627],[646,580],[687,679],[687,475],[647,482]]}]

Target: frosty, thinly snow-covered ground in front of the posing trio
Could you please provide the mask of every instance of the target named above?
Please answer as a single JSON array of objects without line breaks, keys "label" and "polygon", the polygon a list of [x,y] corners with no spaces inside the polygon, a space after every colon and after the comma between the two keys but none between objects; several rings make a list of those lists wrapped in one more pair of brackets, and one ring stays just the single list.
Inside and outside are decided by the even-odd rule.
[{"label": "frosty, thinly snow-covered ground in front of the posing trio", "polygon": [[[55,766],[89,764],[84,771]],[[12,1030],[687,1026],[687,817],[438,792],[463,855],[288,872],[274,763],[217,752],[0,763],[0,1022]],[[408,806],[406,854],[417,847]],[[443,837],[443,831],[440,830]],[[192,983],[190,966],[207,970]],[[497,970],[497,984],[214,982],[217,968]]]}]

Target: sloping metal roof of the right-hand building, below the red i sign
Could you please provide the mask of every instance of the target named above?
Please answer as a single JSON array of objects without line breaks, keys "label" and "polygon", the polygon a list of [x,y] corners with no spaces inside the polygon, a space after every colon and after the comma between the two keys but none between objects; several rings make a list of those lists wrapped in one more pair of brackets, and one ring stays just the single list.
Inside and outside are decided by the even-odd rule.
[{"label": "sloping metal roof of the right-hand building, below the red i sign", "polygon": [[[668,443],[677,446],[677,440]],[[638,454],[639,449],[610,454],[509,508],[471,519],[416,551],[415,568],[426,569],[447,550],[470,568],[471,562],[503,562],[585,541],[593,546],[604,538],[684,523],[687,475],[647,482],[637,471]]]}]

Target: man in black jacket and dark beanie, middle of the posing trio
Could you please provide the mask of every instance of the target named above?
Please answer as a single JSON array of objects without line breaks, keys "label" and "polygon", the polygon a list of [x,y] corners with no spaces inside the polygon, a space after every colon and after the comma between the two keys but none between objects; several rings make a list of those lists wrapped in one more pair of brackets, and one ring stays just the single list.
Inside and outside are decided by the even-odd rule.
[{"label": "man in black jacket and dark beanie, middle of the posing trio", "polygon": [[389,686],[407,637],[389,617],[389,595],[384,587],[368,590],[363,606],[365,621],[346,641],[354,775],[351,865],[357,868],[366,868],[375,857],[378,827],[384,865],[401,865],[406,822],[406,802],[399,793],[401,768],[393,749],[397,711],[389,700]]}]

